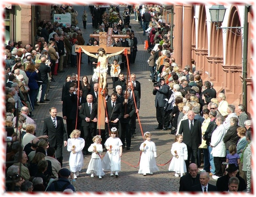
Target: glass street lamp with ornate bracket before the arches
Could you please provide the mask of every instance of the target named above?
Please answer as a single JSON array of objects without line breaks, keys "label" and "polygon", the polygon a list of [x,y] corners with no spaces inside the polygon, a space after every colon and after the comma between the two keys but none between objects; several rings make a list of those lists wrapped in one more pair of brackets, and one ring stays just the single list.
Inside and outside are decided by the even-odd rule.
[{"label": "glass street lamp with ornate bracket before the arches", "polygon": [[[228,30],[228,29],[238,29],[237,32],[241,33],[241,29],[243,29],[243,27],[219,27],[218,26],[218,23],[223,22],[225,12],[226,12],[226,8],[223,5],[213,5],[211,8],[209,8],[209,11],[210,11],[210,16],[211,16],[211,21],[213,23],[216,23],[216,25],[215,25],[216,30],[223,29],[226,32],[226,30]],[[233,32],[233,31],[231,31],[231,32]],[[242,33],[241,33],[241,35],[242,35]]]}]

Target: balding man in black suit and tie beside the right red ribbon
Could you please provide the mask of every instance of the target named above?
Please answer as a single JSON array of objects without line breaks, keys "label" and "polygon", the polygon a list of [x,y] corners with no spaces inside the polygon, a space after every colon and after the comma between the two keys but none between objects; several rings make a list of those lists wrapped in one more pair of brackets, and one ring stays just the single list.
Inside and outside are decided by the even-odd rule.
[{"label": "balding man in black suit and tie beside the right red ribbon", "polygon": [[[132,75],[131,75],[131,77],[133,77]],[[141,86],[141,84],[140,84],[140,86]],[[137,87],[138,87],[138,84],[137,84]],[[141,87],[140,87],[141,88]],[[132,91],[132,89],[133,89],[133,91]],[[132,83],[132,82],[128,82],[128,89],[127,89],[127,91],[129,91],[130,92],[130,95],[129,95],[129,99],[131,99],[131,100],[133,100],[134,101],[134,103],[136,104],[136,107],[137,107],[137,111],[138,111],[138,113],[139,113],[139,110],[140,110],[140,93],[137,91],[137,90],[135,90],[135,88],[134,88],[134,84]],[[124,92],[126,92],[126,90],[123,90],[123,94],[124,94]],[[134,93],[134,97],[135,97],[135,100],[134,100],[134,98],[133,98],[133,93]],[[132,120],[131,120],[131,137],[134,137],[133,136],[133,134],[135,134],[135,129],[136,129],[136,116],[137,116],[137,113],[136,113],[136,111],[135,111],[135,115],[132,117]]]}]

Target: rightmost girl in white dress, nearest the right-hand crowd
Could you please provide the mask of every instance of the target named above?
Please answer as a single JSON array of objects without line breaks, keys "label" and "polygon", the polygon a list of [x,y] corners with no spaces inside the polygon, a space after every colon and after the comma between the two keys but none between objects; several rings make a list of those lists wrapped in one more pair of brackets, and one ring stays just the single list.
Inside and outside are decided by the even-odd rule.
[{"label": "rightmost girl in white dress, nearest the right-hand crowd", "polygon": [[173,158],[168,170],[175,171],[174,176],[176,177],[179,177],[178,173],[180,173],[180,177],[182,177],[183,173],[187,172],[185,160],[188,159],[188,149],[187,145],[182,141],[183,135],[176,135],[175,143],[173,143],[171,147],[171,154],[173,155]]}]

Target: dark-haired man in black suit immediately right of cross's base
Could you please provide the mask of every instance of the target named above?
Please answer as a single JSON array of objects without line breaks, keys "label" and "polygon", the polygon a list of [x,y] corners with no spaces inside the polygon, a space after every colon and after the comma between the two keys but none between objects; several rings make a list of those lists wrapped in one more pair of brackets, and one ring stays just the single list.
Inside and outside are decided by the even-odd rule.
[{"label": "dark-haired man in black suit immediately right of cross's base", "polygon": [[[105,116],[105,122],[109,124],[106,126],[107,128],[115,127],[118,129],[119,120],[123,117],[123,104],[119,103],[116,98],[116,93],[112,93],[111,101],[108,101],[106,105],[107,114]],[[106,133],[106,139],[108,138],[108,134],[109,130]]]}]

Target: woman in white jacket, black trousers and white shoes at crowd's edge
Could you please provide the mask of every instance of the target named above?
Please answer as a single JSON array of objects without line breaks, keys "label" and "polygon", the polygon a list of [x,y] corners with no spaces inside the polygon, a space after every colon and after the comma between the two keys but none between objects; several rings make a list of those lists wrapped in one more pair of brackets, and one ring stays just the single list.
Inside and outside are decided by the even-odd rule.
[{"label": "woman in white jacket, black trousers and white shoes at crowd's edge", "polygon": [[213,148],[211,154],[213,155],[213,161],[215,165],[215,175],[213,175],[213,179],[218,179],[222,176],[222,159],[226,156],[226,148],[225,143],[223,142],[223,137],[225,135],[225,127],[223,125],[224,117],[222,115],[216,116],[215,119],[217,128],[213,131],[211,144],[210,146]]}]

